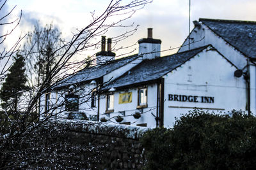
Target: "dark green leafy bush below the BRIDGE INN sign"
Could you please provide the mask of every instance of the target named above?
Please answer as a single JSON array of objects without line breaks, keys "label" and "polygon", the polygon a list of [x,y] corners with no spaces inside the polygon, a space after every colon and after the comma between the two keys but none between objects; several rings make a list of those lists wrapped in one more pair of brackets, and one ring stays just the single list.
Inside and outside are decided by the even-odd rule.
[{"label": "dark green leafy bush below the BRIDGE INN sign", "polygon": [[215,115],[194,110],[173,129],[148,131],[145,169],[254,169],[256,118],[241,111]]}]

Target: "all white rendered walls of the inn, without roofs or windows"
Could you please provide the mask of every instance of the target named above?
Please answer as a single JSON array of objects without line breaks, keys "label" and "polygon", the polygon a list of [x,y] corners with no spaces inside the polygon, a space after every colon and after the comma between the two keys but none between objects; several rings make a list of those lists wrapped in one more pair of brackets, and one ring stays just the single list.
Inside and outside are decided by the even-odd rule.
[{"label": "all white rendered walls of the inn, without roofs or windows", "polygon": [[[244,69],[246,71],[247,60],[243,53],[237,51],[233,46],[227,44],[225,40],[214,34],[208,27],[202,25],[200,29],[195,27],[189,36],[197,43],[191,43],[190,49],[198,48],[200,46],[208,46],[202,52],[197,53],[194,57],[187,60],[181,66],[161,76],[164,83],[163,105],[159,101],[159,81],[150,83],[141,83],[141,85],[129,85],[120,89],[111,88],[108,91],[97,95],[95,107],[91,107],[91,95],[93,91],[97,91],[97,84],[115,83],[117,78],[129,74],[129,70],[141,63],[141,61],[154,60],[160,56],[161,44],[157,43],[140,43],[139,55],[137,59],[125,63],[122,67],[115,69],[102,76],[102,82],[92,80],[75,87],[75,94],[79,96],[79,111],[77,113],[85,113],[88,118],[98,117],[106,118],[108,122],[119,124],[115,118],[123,117],[121,124],[131,125],[147,125],[147,127],[159,127],[157,122],[157,115],[161,114],[160,105],[163,107],[163,125],[164,127],[172,127],[175,118],[179,118],[181,114],[188,113],[189,110],[199,108],[205,111],[214,111],[214,113],[227,113],[232,110],[247,111],[248,106],[248,89],[246,81],[243,76],[237,78],[234,72],[237,69]],[[201,41],[199,41],[202,39]],[[188,44],[188,40],[184,45]],[[182,46],[179,52],[188,50],[188,46]],[[107,58],[107,57],[106,57]],[[166,58],[168,59],[168,58]],[[186,58],[184,58],[186,59]],[[161,66],[159,66],[161,67]],[[250,64],[250,108],[252,113],[255,113],[256,108],[256,69],[253,64]],[[147,106],[138,106],[138,90],[140,88],[147,88]],[[68,89],[55,90],[51,92],[51,106],[57,106],[65,101],[65,94]],[[120,94],[125,92],[132,92],[131,103],[122,103],[118,101]],[[107,95],[114,95],[113,110],[107,110]],[[169,95],[193,96],[198,99],[195,101],[170,101]],[[201,97],[201,98],[200,98]],[[204,97],[211,97],[212,101],[208,103],[200,102]],[[192,99],[192,97],[190,97]],[[208,99],[208,98],[207,98]],[[209,98],[210,99],[210,98]],[[44,96],[41,99],[42,112],[44,112]],[[158,106],[158,108],[157,108]],[[74,111],[73,111],[74,112]],[[139,119],[135,119],[132,115],[134,113],[141,113]],[[54,113],[63,113],[60,117],[65,117],[68,111],[65,111],[63,104]]]}]

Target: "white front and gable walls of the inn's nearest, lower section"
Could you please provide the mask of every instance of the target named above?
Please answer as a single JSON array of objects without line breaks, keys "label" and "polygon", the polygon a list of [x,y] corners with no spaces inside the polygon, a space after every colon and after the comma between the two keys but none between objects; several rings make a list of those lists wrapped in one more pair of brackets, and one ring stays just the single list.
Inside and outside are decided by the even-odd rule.
[{"label": "white front and gable walls of the inn's nearest, lower section", "polygon": [[[164,127],[172,127],[175,117],[188,113],[193,108],[205,108],[205,111],[218,111],[227,113],[232,110],[246,108],[246,84],[243,78],[234,76],[236,67],[214,50],[204,50],[191,60],[178,67],[176,70],[163,76],[164,78]],[[119,111],[125,111],[122,122],[134,122],[134,124],[147,123],[147,127],[156,127],[155,117],[157,106],[157,84],[148,84],[148,107],[143,108],[141,118],[132,117],[138,106],[138,87],[114,92],[114,111],[106,114],[106,96],[100,99],[100,117],[122,116]],[[132,92],[132,103],[118,104],[120,93]],[[186,96],[212,96],[214,103],[193,103],[168,101],[169,94]],[[177,106],[177,108],[175,108]],[[182,108],[184,107],[184,108]],[[144,113],[145,112],[145,113]],[[115,122],[115,119],[110,119]]]}]

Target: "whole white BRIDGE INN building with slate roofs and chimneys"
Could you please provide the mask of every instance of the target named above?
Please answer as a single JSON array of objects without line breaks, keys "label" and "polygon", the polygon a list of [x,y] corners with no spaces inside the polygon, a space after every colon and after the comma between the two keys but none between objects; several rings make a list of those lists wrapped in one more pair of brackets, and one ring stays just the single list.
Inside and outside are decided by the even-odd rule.
[{"label": "whole white BRIDGE INN building with slate roofs and chimneys", "polygon": [[42,108],[58,106],[54,113],[63,113],[60,116],[83,113],[90,120],[147,127],[172,127],[175,117],[194,108],[255,113],[256,22],[194,23],[179,52],[164,57],[152,29],[148,38],[138,41],[137,55],[118,60],[111,39],[105,51],[103,37],[97,61],[104,63],[56,85],[42,99]]}]

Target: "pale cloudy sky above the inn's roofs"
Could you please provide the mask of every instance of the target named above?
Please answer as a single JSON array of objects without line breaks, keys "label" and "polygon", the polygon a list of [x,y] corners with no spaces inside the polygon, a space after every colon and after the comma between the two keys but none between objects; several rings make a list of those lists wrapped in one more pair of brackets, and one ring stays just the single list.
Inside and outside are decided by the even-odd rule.
[{"label": "pale cloudy sky above the inn's roofs", "polygon": [[[33,25],[39,20],[42,25],[51,23],[56,25],[62,32],[63,38],[70,39],[72,32],[85,27],[90,22],[92,19],[90,12],[95,11],[100,14],[108,3],[108,0],[8,0],[9,10],[17,5],[13,15],[19,15],[22,10],[22,20],[12,38],[33,30]],[[199,18],[256,20],[255,6],[255,0],[191,0],[191,30],[193,20]],[[153,38],[161,39],[161,50],[166,50],[161,56],[175,53],[177,50],[168,49],[182,45],[189,33],[189,0],[153,0],[143,9],[136,11],[132,18],[125,20],[124,25],[132,23],[139,25],[138,30],[120,42],[119,46],[129,46],[140,38],[147,38],[147,28],[152,27]],[[111,29],[106,32],[106,36],[111,38],[126,29],[125,27]],[[13,42],[12,38],[8,39],[8,43]],[[138,45],[132,46],[131,51],[138,53]],[[122,50],[116,52],[117,55],[122,53],[125,52]],[[92,55],[92,52],[84,55]]]}]

